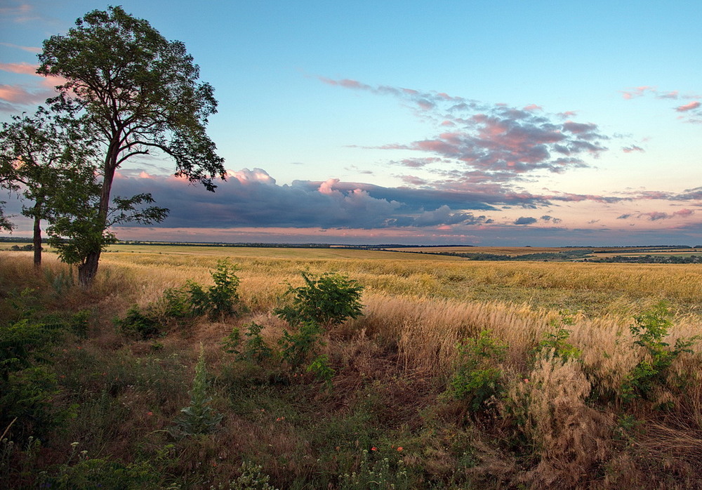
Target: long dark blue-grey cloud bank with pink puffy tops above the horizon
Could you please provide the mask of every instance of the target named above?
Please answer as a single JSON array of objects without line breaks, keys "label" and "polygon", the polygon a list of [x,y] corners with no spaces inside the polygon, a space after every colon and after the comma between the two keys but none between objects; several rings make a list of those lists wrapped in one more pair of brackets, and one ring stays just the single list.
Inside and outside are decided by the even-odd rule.
[{"label": "long dark blue-grey cloud bank with pink puffy tops above the horizon", "polygon": [[[168,227],[319,227],[387,229],[390,227],[436,227],[480,225],[486,216],[452,208],[441,199],[414,201],[392,199],[383,192],[371,195],[359,185],[338,179],[312,183],[300,181],[278,185],[261,168],[227,172],[215,194],[173,177],[120,176],[115,194],[152,192],[159,206],[171,209]],[[380,187],[369,186],[380,190]],[[376,194],[374,192],[374,194]],[[401,192],[395,192],[402,197]],[[442,202],[437,206],[432,206]]]}]

